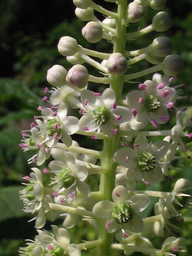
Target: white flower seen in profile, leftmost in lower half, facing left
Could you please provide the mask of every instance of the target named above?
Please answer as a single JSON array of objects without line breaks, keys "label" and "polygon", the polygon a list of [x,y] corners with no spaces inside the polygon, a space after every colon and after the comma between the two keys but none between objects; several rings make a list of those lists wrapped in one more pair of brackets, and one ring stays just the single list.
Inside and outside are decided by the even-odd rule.
[{"label": "white flower seen in profile, leftmost in lower half, facing left", "polygon": [[46,217],[52,221],[55,219],[54,213],[50,211],[49,203],[52,203],[52,197],[46,195],[44,192],[44,185],[42,183],[42,172],[37,168],[31,168],[33,172],[30,177],[27,176],[26,180],[30,184],[23,183],[26,188],[21,190],[21,199],[24,204],[24,212],[37,214],[31,220],[36,219],[35,228],[42,228],[46,222]]}]

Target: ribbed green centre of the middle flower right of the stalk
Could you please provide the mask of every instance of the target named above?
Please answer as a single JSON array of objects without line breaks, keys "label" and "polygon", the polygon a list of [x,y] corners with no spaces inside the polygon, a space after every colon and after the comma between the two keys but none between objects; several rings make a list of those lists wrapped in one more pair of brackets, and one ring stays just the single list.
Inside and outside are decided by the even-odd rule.
[{"label": "ribbed green centre of the middle flower right of the stalk", "polygon": [[146,151],[138,157],[138,166],[141,172],[149,172],[152,170],[156,166],[155,162],[156,159],[153,154]]}]

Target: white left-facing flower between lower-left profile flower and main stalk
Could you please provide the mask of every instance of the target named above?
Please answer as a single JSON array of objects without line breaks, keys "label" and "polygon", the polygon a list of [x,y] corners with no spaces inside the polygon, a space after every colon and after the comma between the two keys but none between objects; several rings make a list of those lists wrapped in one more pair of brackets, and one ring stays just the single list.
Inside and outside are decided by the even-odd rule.
[{"label": "white left-facing flower between lower-left profile flower and main stalk", "polygon": [[75,158],[69,152],[64,152],[62,158],[58,156],[56,160],[49,163],[50,172],[55,174],[50,185],[54,185],[56,190],[60,190],[59,195],[64,196],[67,203],[73,203],[78,191],[86,198],[90,196],[91,190],[84,182],[88,176],[85,165],[75,163]]}]

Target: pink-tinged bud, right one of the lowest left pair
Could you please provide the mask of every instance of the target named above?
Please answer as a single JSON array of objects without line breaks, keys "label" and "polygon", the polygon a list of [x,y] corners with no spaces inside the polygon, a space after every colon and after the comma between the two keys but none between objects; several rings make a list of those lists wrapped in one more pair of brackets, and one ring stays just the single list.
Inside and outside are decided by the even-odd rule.
[{"label": "pink-tinged bud, right one of the lowest left pair", "polygon": [[78,88],[82,89],[88,83],[89,74],[83,65],[74,65],[67,73],[66,81]]}]

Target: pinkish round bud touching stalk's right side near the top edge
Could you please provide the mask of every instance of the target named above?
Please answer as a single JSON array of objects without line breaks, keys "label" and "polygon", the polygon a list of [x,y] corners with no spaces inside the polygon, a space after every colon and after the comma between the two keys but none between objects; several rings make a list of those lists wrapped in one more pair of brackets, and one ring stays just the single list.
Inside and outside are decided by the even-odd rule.
[{"label": "pinkish round bud touching stalk's right side near the top edge", "polygon": [[142,20],[145,16],[145,11],[142,5],[132,2],[127,6],[127,21],[135,23]]}]

